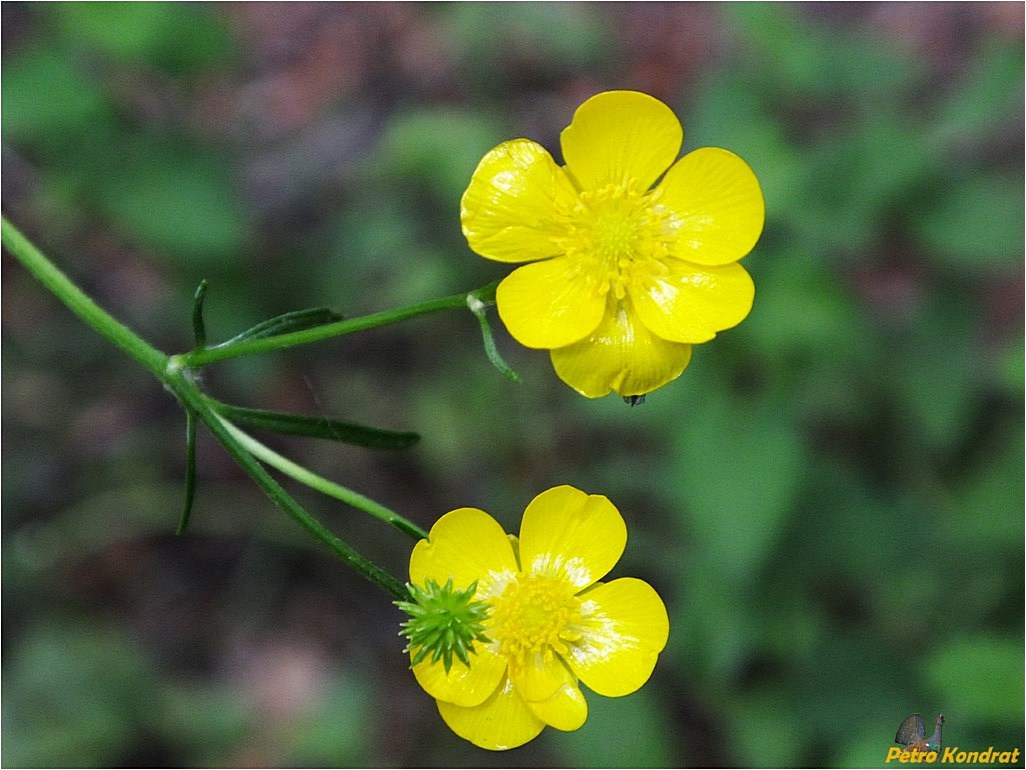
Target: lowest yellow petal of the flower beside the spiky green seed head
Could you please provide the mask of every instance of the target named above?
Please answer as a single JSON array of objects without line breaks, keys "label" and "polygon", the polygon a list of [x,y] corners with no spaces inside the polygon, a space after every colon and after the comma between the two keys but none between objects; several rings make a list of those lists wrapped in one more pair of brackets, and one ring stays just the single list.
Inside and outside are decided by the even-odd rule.
[{"label": "lowest yellow petal of the flower beside the spiky green seed head", "polygon": [[437,703],[449,729],[481,748],[516,748],[545,729],[545,723],[531,713],[509,680],[477,706],[467,708],[443,700]]}]

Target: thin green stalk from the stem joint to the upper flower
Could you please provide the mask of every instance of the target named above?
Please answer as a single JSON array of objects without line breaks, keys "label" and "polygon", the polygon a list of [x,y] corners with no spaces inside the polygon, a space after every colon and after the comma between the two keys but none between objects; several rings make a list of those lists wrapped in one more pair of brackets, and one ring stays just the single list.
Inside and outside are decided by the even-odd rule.
[{"label": "thin green stalk from the stem joint to the upper flower", "polygon": [[261,337],[231,345],[214,346],[202,350],[193,350],[173,356],[175,365],[196,369],[205,367],[208,363],[223,361],[229,358],[236,358],[241,355],[251,355],[253,353],[265,353],[271,350],[293,347],[295,345],[307,345],[311,342],[320,342],[331,337],[362,332],[367,329],[385,326],[390,323],[416,318],[419,315],[427,315],[439,310],[453,310],[456,308],[467,307],[471,300],[486,302],[495,297],[496,285],[489,283],[486,286],[464,294],[439,297],[434,300],[426,300],[415,305],[409,305],[395,310],[383,310],[379,313],[361,315],[356,318],[346,318],[334,323],[324,323],[319,326],[303,329],[298,332],[289,332],[273,337]]}]

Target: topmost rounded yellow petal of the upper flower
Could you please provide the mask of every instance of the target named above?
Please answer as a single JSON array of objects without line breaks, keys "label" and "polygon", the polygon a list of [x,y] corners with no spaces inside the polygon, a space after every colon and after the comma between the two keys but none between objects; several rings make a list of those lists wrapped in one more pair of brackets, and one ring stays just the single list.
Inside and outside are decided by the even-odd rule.
[{"label": "topmost rounded yellow petal of the upper flower", "polygon": [[680,121],[658,99],[605,91],[577,109],[559,140],[563,161],[581,189],[633,179],[644,191],[670,167],[683,138]]}]

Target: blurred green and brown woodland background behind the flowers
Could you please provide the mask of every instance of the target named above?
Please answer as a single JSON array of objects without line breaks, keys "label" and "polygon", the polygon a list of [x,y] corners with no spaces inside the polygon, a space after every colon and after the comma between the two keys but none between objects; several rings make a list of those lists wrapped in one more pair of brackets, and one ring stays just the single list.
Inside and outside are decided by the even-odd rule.
[{"label": "blurred green and brown woodland background behind the flowers", "polygon": [[[6,766],[878,766],[899,723],[1023,747],[1021,3],[4,3],[4,214],[161,349],[191,297],[227,339],[508,272],[460,196],[514,137],[558,153],[593,93],[666,101],[684,150],[754,168],[740,326],[629,408],[448,312],[214,364],[236,403],[419,431],[381,453],[266,436],[424,528],[517,528],[557,484],[629,526],[649,683],[506,754],[451,734],[391,598],[3,258]],[[404,577],[411,542],[304,488]],[[930,728],[928,728],[929,731]],[[1021,766],[1021,761],[1020,761]]]}]

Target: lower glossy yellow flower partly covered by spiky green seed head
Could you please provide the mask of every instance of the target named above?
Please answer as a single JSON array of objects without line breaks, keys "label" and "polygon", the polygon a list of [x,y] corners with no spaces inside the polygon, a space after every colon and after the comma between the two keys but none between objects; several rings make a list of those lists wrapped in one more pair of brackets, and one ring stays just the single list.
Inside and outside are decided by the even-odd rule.
[{"label": "lower glossy yellow flower partly covered by spiky green seed head", "polygon": [[[447,583],[488,608],[486,642],[470,665],[421,655],[418,683],[445,723],[483,748],[535,738],[546,725],[577,730],[588,716],[579,682],[606,696],[647,681],[669,620],[655,589],[636,578],[599,580],[627,543],[620,511],[599,495],[555,487],[523,513],[520,537],[477,508],[449,511],[409,560],[411,583]],[[411,659],[413,652],[410,652]]]}]

